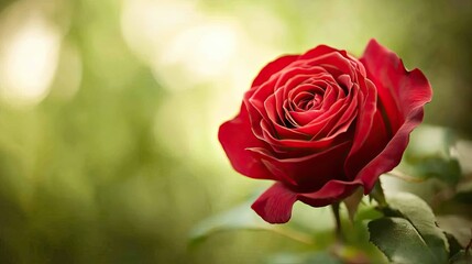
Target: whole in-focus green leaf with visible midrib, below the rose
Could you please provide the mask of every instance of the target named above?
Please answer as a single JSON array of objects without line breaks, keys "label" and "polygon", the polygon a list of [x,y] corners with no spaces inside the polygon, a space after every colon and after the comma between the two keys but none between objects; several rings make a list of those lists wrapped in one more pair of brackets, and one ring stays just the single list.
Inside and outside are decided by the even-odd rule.
[{"label": "whole in-focus green leaf with visible midrib, below the rose", "polygon": [[[399,263],[447,263],[448,240],[436,226],[429,206],[411,194],[388,200],[385,218],[369,223],[371,241],[392,261]],[[419,261],[420,262],[405,260]]]}]

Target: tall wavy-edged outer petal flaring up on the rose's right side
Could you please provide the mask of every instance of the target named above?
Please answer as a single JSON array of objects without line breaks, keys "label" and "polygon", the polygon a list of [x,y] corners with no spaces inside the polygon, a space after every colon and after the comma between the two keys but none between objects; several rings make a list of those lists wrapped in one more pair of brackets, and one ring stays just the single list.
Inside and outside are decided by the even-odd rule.
[{"label": "tall wavy-edged outer petal flaring up on the rose's right side", "polygon": [[407,72],[398,56],[375,40],[369,43],[361,62],[377,87],[386,116],[384,121],[389,122],[393,133],[385,148],[356,176],[369,194],[378,176],[400,162],[409,133],[422,121],[424,106],[431,100],[432,91],[419,69]]}]

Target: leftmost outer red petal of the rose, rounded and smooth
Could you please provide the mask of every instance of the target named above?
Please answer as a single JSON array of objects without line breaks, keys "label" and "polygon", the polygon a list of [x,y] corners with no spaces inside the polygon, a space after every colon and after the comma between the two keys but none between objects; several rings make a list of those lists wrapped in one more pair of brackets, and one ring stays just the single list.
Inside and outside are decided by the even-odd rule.
[{"label": "leftmost outer red petal of the rose, rounded and smooth", "polygon": [[252,178],[273,179],[261,161],[245,150],[265,147],[265,145],[254,136],[244,103],[238,117],[221,124],[218,139],[237,172]]}]

